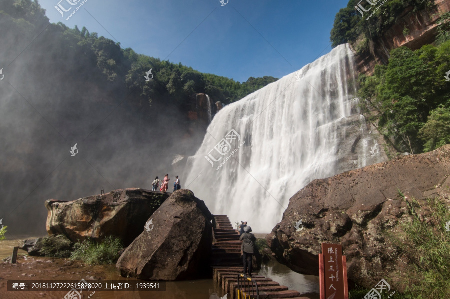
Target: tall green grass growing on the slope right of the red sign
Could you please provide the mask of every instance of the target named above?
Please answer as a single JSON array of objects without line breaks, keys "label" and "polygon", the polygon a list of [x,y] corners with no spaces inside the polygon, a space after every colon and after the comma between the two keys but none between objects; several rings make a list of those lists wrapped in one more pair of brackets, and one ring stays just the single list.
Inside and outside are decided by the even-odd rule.
[{"label": "tall green grass growing on the slope right of the red sign", "polygon": [[[391,235],[413,266],[413,272],[395,277],[406,285],[407,299],[450,298],[450,232],[445,223],[450,221],[448,207],[439,198],[426,200],[423,206],[412,198],[406,200],[412,222],[400,225],[401,232]],[[421,213],[429,210],[427,221]],[[393,277],[392,277],[393,278]]]}]

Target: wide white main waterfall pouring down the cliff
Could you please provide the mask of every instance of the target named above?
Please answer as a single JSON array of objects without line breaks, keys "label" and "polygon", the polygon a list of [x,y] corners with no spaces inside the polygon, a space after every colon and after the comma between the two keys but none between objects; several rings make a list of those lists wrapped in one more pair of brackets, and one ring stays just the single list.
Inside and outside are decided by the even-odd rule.
[{"label": "wide white main waterfall pouring down the cliff", "polygon": [[[355,145],[342,145],[348,119],[353,127],[359,121],[355,131],[366,129],[353,109],[354,65],[349,46],[340,45],[299,72],[224,107],[188,160],[185,187],[212,213],[227,214],[232,222],[247,220],[253,231],[269,232],[289,198],[307,183],[368,164],[363,159],[367,153],[355,158]],[[352,157],[342,158],[348,155]]]}]

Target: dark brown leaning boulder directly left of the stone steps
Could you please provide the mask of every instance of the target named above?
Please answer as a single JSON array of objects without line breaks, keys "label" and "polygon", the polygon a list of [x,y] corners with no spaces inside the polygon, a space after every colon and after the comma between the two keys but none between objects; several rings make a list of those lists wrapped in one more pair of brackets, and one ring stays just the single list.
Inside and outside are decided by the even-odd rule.
[{"label": "dark brown leaning boulder directly left of the stone steps", "polygon": [[175,191],[148,219],[151,225],[126,248],[116,267],[124,277],[145,280],[209,274],[211,220],[204,202],[191,191]]}]

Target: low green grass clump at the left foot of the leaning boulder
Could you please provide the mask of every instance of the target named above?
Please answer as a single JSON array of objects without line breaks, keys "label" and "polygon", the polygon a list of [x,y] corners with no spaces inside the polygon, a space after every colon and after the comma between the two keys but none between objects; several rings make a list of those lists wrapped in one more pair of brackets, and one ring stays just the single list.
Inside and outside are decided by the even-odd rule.
[{"label": "low green grass clump at the left foot of the leaning boulder", "polygon": [[120,257],[123,248],[120,239],[107,236],[103,242],[97,243],[91,239],[76,243],[71,259],[79,259],[89,265],[114,264]]}]

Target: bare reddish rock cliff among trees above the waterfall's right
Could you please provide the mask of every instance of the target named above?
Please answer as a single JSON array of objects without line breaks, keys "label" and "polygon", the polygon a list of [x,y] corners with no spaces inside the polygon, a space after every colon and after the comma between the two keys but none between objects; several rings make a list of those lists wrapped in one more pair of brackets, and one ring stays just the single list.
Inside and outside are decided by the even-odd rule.
[{"label": "bare reddish rock cliff among trees above the waterfall's right", "polygon": [[[374,40],[370,52],[356,55],[357,69],[360,73],[373,74],[376,64],[386,64],[391,49],[407,46],[413,50],[432,43],[437,35],[437,20],[442,13],[450,11],[450,0],[436,0],[429,10],[404,11],[403,16],[381,38]],[[408,35],[403,34],[404,29]]]}]

